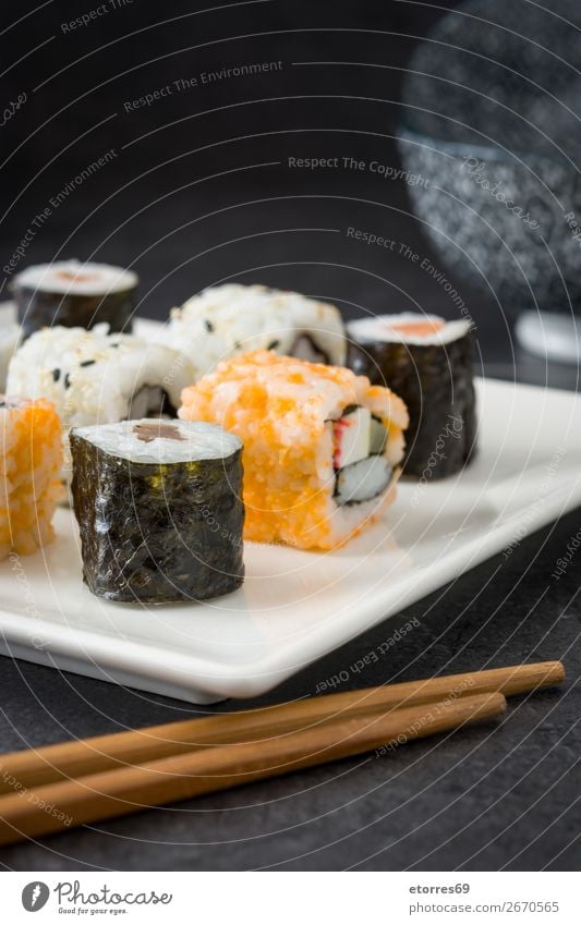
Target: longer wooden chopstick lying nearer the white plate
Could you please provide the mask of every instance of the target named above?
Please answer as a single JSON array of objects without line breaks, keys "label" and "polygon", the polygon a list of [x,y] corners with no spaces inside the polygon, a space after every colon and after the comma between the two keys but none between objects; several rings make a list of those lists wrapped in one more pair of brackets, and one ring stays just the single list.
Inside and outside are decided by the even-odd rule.
[{"label": "longer wooden chopstick lying nearer the white plate", "polygon": [[375,708],[386,711],[449,696],[495,691],[509,696],[560,684],[564,680],[565,669],[559,661],[542,661],[327,694],[274,707],[180,720],[12,752],[0,755],[0,794],[180,755],[196,747],[280,738],[334,717],[347,718],[348,715]]}]

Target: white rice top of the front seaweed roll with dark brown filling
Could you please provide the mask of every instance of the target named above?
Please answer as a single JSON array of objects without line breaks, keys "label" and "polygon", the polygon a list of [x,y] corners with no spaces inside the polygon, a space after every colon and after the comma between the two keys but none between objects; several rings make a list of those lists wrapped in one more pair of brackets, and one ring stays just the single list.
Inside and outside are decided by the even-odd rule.
[{"label": "white rice top of the front seaweed roll with dark brown filling", "polygon": [[[158,434],[154,439],[140,436]],[[137,429],[136,429],[137,428]],[[75,437],[88,440],[99,449],[119,459],[137,463],[179,463],[198,460],[221,460],[242,449],[242,440],[218,424],[203,421],[160,421],[146,417],[141,421],[121,421],[75,427]]]}]

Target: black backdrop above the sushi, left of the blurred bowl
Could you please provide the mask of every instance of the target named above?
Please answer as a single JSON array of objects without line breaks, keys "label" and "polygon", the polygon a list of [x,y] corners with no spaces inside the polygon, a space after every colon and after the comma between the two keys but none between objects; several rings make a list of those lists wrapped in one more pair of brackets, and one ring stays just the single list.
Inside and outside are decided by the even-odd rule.
[{"label": "black backdrop above the sushi, left of the blurred bowl", "polygon": [[[420,303],[453,315],[409,259],[346,238],[356,226],[429,254],[403,182],[288,167],[289,157],[317,156],[399,166],[403,68],[445,8],[274,0],[204,12],[133,0],[63,32],[90,9],[50,3],[2,36],[2,60],[20,60],[3,99],[27,94],[2,130],[2,266],[50,198],[114,149],[52,210],[16,269],[57,257],[134,267],[138,311],[158,318],[225,279],[299,289],[348,314]],[[15,3],[4,11],[7,21],[23,14]],[[203,72],[262,61],[282,66],[201,82]],[[192,77],[197,87],[177,92],[174,81]],[[171,95],[125,111],[168,85]],[[498,306],[458,288],[476,320],[506,339]]]}]

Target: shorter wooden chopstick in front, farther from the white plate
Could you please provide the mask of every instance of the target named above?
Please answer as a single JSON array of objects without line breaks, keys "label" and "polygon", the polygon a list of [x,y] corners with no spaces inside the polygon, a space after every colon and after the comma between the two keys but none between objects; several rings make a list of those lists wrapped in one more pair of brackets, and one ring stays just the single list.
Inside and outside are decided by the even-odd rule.
[{"label": "shorter wooden chopstick in front, farther from the white plate", "polygon": [[301,768],[433,735],[506,709],[500,693],[328,720],[258,744],[195,748],[138,767],[49,783],[0,799],[0,844],[125,816]]}]

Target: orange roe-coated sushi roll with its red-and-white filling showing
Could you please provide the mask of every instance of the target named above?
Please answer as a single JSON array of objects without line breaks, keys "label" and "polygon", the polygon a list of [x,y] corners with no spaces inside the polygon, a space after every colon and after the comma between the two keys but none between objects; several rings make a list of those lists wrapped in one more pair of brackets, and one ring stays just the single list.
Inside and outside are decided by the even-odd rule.
[{"label": "orange roe-coated sushi roll with its red-and-white filling showing", "polygon": [[403,402],[350,369],[256,351],[185,389],[180,417],[244,443],[245,538],[332,549],[395,497]]}]

